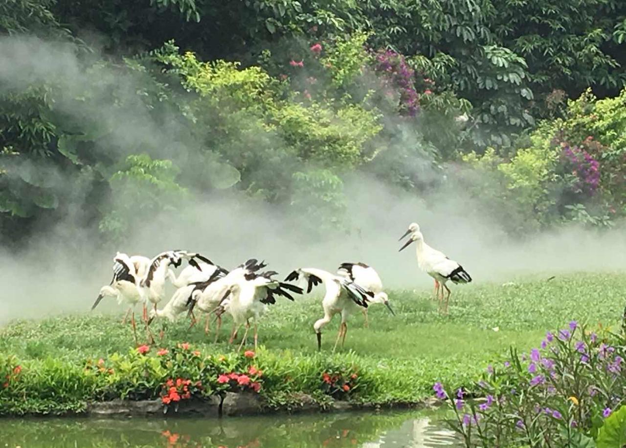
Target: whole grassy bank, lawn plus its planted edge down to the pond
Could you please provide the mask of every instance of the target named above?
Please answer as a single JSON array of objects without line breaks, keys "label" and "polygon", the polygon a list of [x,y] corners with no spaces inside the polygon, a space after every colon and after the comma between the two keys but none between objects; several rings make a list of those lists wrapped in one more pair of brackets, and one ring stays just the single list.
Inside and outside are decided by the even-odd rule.
[{"label": "whole grassy bank, lawn plus its planted edge down to the pond", "polygon": [[[254,358],[233,353],[225,343],[228,320],[217,344],[201,326],[188,330],[184,319],[168,324],[163,340],[143,355],[130,346],[130,328],[120,324],[120,316],[16,321],[0,330],[0,369],[3,363],[7,372],[19,365],[14,382],[0,389],[0,412],[62,412],[84,409],[90,399],[156,398],[167,379],[176,377],[202,380],[203,390],[193,392],[201,395],[237,390],[246,385],[217,383],[218,375],[247,373],[250,367],[263,371],[257,379],[270,405],[284,405],[298,392],[322,402],[333,392],[355,401],[415,402],[431,396],[437,380],[468,383],[500,362],[509,346],[528,350],[546,330],[572,319],[613,325],[622,315],[625,289],[626,277],[617,273],[472,284],[454,288],[448,316],[438,314],[431,291],[391,291],[396,316],[372,306],[369,328],[363,328],[362,316],[353,316],[346,346],[334,354],[338,318],[324,333],[322,353],[316,352],[317,298],[273,306],[260,325],[262,348]],[[91,300],[85,298],[86,308]],[[155,330],[161,325],[153,323]],[[183,342],[190,346],[181,348]],[[157,355],[160,348],[169,353]],[[324,383],[324,372],[337,377],[337,388],[347,382],[350,390]]]}]

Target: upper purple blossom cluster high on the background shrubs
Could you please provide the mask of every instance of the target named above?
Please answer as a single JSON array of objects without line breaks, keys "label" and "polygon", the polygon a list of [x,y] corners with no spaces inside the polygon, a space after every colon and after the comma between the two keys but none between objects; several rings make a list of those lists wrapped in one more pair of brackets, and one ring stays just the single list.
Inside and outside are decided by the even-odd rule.
[{"label": "upper purple blossom cluster high on the background shrubs", "polygon": [[391,49],[376,53],[374,71],[382,75],[386,88],[395,88],[400,92],[401,112],[414,117],[419,110],[419,95],[415,90],[415,72],[410,68],[404,56]]}]

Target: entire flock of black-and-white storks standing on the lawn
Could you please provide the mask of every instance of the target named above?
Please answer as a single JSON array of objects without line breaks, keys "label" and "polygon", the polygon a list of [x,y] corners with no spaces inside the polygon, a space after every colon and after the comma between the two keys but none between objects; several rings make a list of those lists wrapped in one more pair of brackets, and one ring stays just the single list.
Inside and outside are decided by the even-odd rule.
[{"label": "entire flock of black-and-white storks standing on the lawn", "polygon": [[[435,296],[439,304],[443,305],[444,313],[447,313],[451,291],[446,283],[448,281],[468,283],[471,277],[456,261],[428,246],[418,224],[411,224],[398,241],[406,236],[409,236],[409,239],[400,251],[412,242],[416,243],[419,268],[434,278]],[[188,266],[177,276],[172,268],[178,268],[183,260],[187,261]],[[322,328],[337,313],[341,313],[341,325],[333,350],[340,340],[343,345],[347,333],[347,317],[355,311],[362,310],[366,326],[367,306],[372,303],[382,303],[392,314],[394,313],[387,294],[382,290],[381,278],[374,268],[364,263],[342,263],[336,274],[323,269],[299,268],[289,273],[284,281],[279,281],[274,279],[278,273],[263,271],[267,264],[263,261],[259,263],[257,259],[249,259],[232,271],[227,271],[201,254],[182,250],[163,252],[152,259],[118,252],[113,261],[113,279],[108,286],[100,289],[100,295],[91,309],[96,308],[103,297],[115,297],[120,305],[128,305],[123,323],[130,313],[135,343],[137,343],[135,306],[140,303],[143,304],[142,320],[146,335],[151,343],[154,342],[154,338],[150,331],[150,323],[155,318],[173,321],[181,313],[187,312],[193,326],[196,322],[194,311],[207,315],[206,333],[209,330],[210,316],[216,316],[215,341],[217,341],[222,315],[227,313],[233,320],[230,343],[233,343],[237,331],[245,324],[245,333],[239,350],[247,340],[250,320],[254,323],[254,346],[257,348],[257,321],[264,313],[266,305],[276,303],[277,296],[293,301],[294,294],[304,293],[302,287],[306,288],[307,293],[320,283],[326,288],[322,300],[324,317],[313,325],[318,350],[321,350],[322,346]],[[170,301],[159,310],[158,304],[165,299],[168,280],[177,289]],[[445,301],[444,289],[448,292]],[[148,311],[150,303],[153,308]]]}]

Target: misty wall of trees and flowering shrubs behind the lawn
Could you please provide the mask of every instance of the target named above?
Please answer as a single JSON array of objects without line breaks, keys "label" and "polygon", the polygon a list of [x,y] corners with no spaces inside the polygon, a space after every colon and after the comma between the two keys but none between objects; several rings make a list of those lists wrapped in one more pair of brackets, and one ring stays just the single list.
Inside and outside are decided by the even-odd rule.
[{"label": "misty wall of trees and flowering shrubs behind the lawn", "polygon": [[8,0],[0,33],[61,48],[0,70],[4,244],[233,191],[347,229],[354,172],[511,233],[626,215],[620,0]]}]

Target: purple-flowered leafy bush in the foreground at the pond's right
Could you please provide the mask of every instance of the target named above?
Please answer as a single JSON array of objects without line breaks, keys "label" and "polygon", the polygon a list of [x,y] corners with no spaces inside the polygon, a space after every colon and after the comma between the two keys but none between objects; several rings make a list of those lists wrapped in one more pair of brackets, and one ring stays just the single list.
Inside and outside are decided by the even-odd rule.
[{"label": "purple-flowered leafy bush in the foreground at the pond's right", "polygon": [[466,400],[462,389],[449,394],[441,383],[433,389],[454,410],[466,447],[592,446],[585,444],[624,404],[625,356],[622,336],[572,321],[530,353],[511,349],[510,361],[490,366],[476,385],[480,399]]}]

